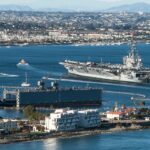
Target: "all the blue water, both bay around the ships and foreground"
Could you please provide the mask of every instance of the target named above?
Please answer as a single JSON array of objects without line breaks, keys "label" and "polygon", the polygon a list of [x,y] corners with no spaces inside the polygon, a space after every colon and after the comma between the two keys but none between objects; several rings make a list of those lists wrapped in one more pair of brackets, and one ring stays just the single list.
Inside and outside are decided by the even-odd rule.
[{"label": "all the blue water, both bay around the ships and foreground", "polygon": [[[138,44],[138,52],[143,58],[143,64],[150,66],[150,45]],[[122,63],[122,57],[129,52],[128,45],[121,46],[12,46],[10,48],[0,47],[0,85],[20,85],[24,81],[25,72],[28,73],[30,83],[35,86],[37,80],[43,76],[49,75],[51,78],[61,79],[67,75],[60,61],[65,59],[78,61],[96,61],[101,59],[104,62]],[[27,68],[18,68],[16,64],[20,59],[25,59],[30,66]],[[1,75],[1,73],[5,73]],[[13,77],[17,75],[18,77]],[[77,83],[69,79],[69,82],[61,82],[61,86],[91,86],[104,89],[103,104],[100,110],[108,110],[117,100],[119,105],[125,103],[128,106],[134,106],[130,100],[135,94],[143,94],[150,98],[150,84],[147,85],[128,85],[114,84],[106,82],[85,82]],[[50,85],[50,81],[46,83]],[[112,92],[113,91],[113,92]],[[117,93],[116,93],[117,92]],[[118,93],[120,92],[120,93]],[[146,101],[150,106],[150,101]],[[0,110],[0,116],[7,118],[21,117],[22,113],[13,110]],[[79,137],[71,139],[50,139],[38,142],[17,143],[10,145],[0,145],[2,150],[25,150],[29,147],[31,150],[147,150],[149,149],[150,131],[122,132],[113,134],[103,134],[88,137]]]}]

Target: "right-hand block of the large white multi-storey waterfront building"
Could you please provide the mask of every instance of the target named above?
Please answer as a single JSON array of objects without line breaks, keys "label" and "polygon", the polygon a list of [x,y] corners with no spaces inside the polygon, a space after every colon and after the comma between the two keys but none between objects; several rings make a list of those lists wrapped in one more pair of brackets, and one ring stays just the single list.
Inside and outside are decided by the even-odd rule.
[{"label": "right-hand block of the large white multi-storey waterfront building", "polygon": [[78,111],[79,114],[79,127],[91,128],[100,126],[100,115],[98,110],[88,109]]}]

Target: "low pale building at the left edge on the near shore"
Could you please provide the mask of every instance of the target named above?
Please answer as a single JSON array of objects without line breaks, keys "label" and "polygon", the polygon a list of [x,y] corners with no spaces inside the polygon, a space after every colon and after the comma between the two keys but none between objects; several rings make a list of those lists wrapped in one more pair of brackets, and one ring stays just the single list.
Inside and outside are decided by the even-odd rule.
[{"label": "low pale building at the left edge on the near shore", "polygon": [[5,131],[18,130],[18,121],[12,119],[1,119],[0,120],[0,129]]}]

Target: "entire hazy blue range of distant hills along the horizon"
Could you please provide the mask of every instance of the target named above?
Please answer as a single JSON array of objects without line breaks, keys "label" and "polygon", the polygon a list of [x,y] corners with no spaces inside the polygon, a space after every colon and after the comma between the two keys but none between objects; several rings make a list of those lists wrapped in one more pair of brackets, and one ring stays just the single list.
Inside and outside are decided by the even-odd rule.
[{"label": "entire hazy blue range of distant hills along the horizon", "polygon": [[[84,9],[73,10],[73,9],[59,9],[59,8],[41,8],[41,9],[32,9],[26,5],[0,5],[0,11],[43,11],[43,12],[86,12]],[[134,3],[130,5],[121,5],[117,7],[112,7],[106,10],[95,10],[96,12],[148,12],[150,13],[150,4],[147,3]]]}]

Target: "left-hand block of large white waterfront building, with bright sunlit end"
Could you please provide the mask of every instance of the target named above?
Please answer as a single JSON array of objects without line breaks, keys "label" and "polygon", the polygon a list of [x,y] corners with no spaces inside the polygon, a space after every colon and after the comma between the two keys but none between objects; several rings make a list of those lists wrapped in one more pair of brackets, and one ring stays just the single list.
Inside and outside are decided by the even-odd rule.
[{"label": "left-hand block of large white waterfront building, with bright sunlit end", "polygon": [[46,131],[69,131],[75,130],[79,117],[75,110],[57,109],[45,118]]}]

